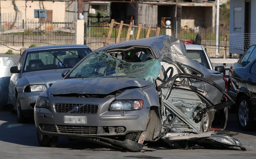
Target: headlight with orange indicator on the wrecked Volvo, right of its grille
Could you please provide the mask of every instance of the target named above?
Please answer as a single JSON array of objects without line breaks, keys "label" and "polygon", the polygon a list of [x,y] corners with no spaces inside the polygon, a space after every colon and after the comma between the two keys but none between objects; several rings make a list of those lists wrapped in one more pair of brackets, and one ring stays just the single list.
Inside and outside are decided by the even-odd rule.
[{"label": "headlight with orange indicator on the wrecked Volvo, right of its grille", "polygon": [[143,106],[143,100],[115,100],[110,104],[109,111],[134,111]]}]

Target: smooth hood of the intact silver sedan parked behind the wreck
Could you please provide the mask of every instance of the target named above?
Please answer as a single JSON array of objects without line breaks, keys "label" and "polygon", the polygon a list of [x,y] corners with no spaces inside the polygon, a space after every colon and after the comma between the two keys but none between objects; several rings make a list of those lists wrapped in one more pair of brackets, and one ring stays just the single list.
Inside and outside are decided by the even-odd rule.
[{"label": "smooth hood of the intact silver sedan parked behind the wreck", "polygon": [[57,80],[62,79],[61,71],[63,69],[57,70],[42,70],[42,71],[32,71],[25,72],[22,75],[29,81],[30,85],[53,83]]}]

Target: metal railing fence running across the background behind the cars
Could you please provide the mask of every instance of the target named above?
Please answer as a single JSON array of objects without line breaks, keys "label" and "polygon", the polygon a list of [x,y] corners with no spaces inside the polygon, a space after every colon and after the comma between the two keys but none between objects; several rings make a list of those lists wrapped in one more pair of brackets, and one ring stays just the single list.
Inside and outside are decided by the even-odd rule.
[{"label": "metal railing fence running across the background behind the cars", "polygon": [[[2,30],[11,29],[10,25],[5,22],[0,24]],[[9,26],[9,27],[8,27]],[[0,34],[0,57],[4,56],[17,56],[15,61],[18,61],[21,49],[24,47],[34,47],[42,45],[57,45],[57,44],[74,44],[75,34],[68,32],[60,32],[53,30],[54,27],[63,29],[75,29],[74,23],[37,23],[37,22],[17,22],[15,23],[15,29],[24,29],[24,33],[9,33]],[[108,35],[109,25],[86,25],[85,24],[85,39],[84,42],[87,46],[95,50],[99,47],[104,46],[105,39],[104,35]],[[152,27],[153,28],[153,27]],[[169,30],[168,30],[169,29]],[[1,30],[1,31],[2,31]],[[111,43],[115,43],[118,35],[118,26],[114,26],[111,34]],[[127,36],[128,27],[123,27],[120,41],[125,41]],[[180,30],[174,30],[174,28],[161,28],[160,35],[169,32],[172,36],[177,37],[181,40],[194,40],[197,34],[202,37],[202,45],[207,49],[210,58],[223,58],[224,52],[229,55],[229,39],[231,35],[228,35],[227,43],[225,44],[225,35],[228,34],[227,30],[220,28],[219,32],[219,45],[216,46],[215,41],[215,29],[213,28],[189,28],[183,27]],[[140,38],[145,38],[147,30],[141,30]],[[137,36],[137,29],[132,28],[132,33],[130,35],[130,40],[135,39]],[[155,36],[155,32],[150,32],[150,36]],[[225,47],[226,45],[226,47]],[[216,49],[218,50],[216,53]],[[227,57],[226,56],[226,57]],[[229,56],[228,56],[229,57]],[[236,56],[232,56],[236,58]],[[221,65],[221,64],[218,64]]]}]

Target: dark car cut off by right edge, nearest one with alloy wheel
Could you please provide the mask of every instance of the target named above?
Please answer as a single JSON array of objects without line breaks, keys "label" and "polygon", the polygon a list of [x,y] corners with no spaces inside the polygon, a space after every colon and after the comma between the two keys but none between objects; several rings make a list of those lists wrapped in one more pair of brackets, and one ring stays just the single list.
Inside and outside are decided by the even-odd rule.
[{"label": "dark car cut off by right edge, nearest one with alloy wheel", "polygon": [[256,58],[234,69],[230,80],[228,94],[236,101],[238,123],[242,130],[251,130],[256,121]]}]

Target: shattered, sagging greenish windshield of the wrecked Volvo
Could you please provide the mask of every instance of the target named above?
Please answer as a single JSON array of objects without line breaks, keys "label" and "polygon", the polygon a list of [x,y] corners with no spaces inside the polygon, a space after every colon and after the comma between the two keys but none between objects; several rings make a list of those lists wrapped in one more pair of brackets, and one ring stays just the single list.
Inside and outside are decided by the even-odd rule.
[{"label": "shattered, sagging greenish windshield of the wrecked Volvo", "polygon": [[[139,78],[149,82],[157,79],[161,64],[157,59],[126,62],[106,52],[95,52],[80,63],[67,78]],[[122,56],[118,54],[117,57]]]}]

